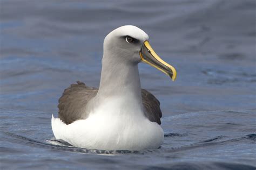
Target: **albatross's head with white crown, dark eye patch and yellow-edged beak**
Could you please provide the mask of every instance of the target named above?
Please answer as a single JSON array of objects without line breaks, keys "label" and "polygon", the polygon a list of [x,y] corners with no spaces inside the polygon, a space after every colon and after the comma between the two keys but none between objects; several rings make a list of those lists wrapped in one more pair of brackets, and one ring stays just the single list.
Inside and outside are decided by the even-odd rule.
[{"label": "albatross's head with white crown, dark eye patch and yellow-edged beak", "polygon": [[141,29],[132,25],[125,25],[113,30],[104,40],[103,63],[111,63],[112,66],[137,65],[145,62],[165,74],[172,80],[176,79],[176,70],[161,60],[149,44],[149,36]]}]

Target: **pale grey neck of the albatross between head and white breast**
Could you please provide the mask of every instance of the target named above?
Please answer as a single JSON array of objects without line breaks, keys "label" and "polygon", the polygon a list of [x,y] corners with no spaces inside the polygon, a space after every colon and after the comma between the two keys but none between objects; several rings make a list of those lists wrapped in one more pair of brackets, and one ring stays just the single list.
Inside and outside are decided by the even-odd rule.
[{"label": "pale grey neck of the albatross between head and white breast", "polygon": [[122,56],[118,57],[119,61],[116,57],[104,58],[103,56],[102,74],[96,99],[100,103],[106,102],[106,99],[111,97],[127,97],[126,100],[142,106],[138,64],[124,62]]}]

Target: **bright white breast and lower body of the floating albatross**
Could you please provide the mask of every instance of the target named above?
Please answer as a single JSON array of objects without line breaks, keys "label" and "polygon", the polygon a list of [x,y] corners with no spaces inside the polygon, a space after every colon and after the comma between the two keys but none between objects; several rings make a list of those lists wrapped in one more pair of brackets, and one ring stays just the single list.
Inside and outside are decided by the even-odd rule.
[{"label": "bright white breast and lower body of the floating albatross", "polygon": [[150,122],[139,105],[122,98],[109,99],[87,119],[69,125],[52,116],[52,130],[57,139],[73,146],[99,150],[158,148],[164,140],[163,129]]}]

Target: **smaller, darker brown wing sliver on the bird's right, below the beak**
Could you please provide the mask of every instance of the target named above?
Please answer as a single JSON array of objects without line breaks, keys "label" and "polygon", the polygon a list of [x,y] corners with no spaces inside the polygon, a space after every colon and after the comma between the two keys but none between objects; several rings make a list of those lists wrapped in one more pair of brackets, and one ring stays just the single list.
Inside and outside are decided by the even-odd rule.
[{"label": "smaller, darker brown wing sliver on the bird's right, below the beak", "polygon": [[160,102],[145,89],[142,89],[142,104],[144,105],[145,116],[150,119],[151,122],[157,122],[160,125],[160,118],[162,117]]}]

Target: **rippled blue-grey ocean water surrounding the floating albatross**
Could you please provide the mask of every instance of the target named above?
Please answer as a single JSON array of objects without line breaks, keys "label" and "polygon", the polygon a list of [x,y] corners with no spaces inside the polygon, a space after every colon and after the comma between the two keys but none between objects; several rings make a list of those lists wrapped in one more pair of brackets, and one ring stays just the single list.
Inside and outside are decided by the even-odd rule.
[{"label": "rippled blue-grey ocean water surrounding the floating albatross", "polygon": [[[255,10],[253,0],[0,0],[0,169],[255,169]],[[58,98],[78,80],[98,87],[104,37],[122,25],[177,69],[172,82],[139,64],[164,144],[98,151],[55,139]]]}]

